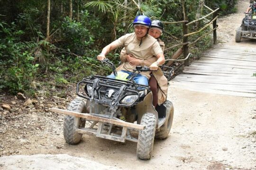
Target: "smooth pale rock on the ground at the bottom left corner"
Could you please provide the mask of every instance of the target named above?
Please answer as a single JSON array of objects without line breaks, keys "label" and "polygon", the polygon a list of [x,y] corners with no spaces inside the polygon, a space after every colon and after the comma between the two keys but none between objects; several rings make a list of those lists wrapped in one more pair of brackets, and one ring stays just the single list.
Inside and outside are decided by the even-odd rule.
[{"label": "smooth pale rock on the ground at the bottom left corner", "polygon": [[[50,166],[49,166],[50,165]],[[67,154],[13,155],[0,157],[2,170],[118,170]]]}]

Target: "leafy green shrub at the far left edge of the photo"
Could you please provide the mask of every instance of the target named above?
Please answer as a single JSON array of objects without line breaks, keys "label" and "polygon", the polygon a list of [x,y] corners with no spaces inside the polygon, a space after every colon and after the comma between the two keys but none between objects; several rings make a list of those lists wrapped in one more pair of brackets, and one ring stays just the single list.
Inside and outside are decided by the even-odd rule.
[{"label": "leafy green shrub at the far left edge of the photo", "polygon": [[0,22],[0,33],[0,89],[7,89],[11,93],[27,90],[38,68],[27,50],[37,44],[20,42],[19,37],[24,32],[16,30],[14,23],[8,26]]}]

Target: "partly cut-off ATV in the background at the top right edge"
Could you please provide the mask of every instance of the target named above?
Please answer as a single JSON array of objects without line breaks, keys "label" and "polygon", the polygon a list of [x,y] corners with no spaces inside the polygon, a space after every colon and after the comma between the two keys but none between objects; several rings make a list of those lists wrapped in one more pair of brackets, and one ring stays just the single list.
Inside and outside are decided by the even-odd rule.
[{"label": "partly cut-off ATV in the background at the top right edge", "polygon": [[251,11],[245,14],[241,26],[236,30],[236,42],[241,42],[241,38],[256,39],[256,16]]}]

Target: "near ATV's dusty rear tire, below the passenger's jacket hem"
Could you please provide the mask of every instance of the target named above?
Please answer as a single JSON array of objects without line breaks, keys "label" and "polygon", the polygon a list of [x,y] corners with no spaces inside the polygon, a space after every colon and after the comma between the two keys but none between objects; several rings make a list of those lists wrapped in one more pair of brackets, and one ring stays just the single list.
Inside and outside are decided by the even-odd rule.
[{"label": "near ATV's dusty rear tire, below the passenger's jacket hem", "polygon": [[173,119],[174,119],[174,105],[170,101],[166,101],[164,103],[166,107],[166,115],[169,113],[167,120],[165,123],[159,128],[157,132],[155,132],[155,138],[156,139],[166,139],[170,133],[172,124],[173,124]]}]

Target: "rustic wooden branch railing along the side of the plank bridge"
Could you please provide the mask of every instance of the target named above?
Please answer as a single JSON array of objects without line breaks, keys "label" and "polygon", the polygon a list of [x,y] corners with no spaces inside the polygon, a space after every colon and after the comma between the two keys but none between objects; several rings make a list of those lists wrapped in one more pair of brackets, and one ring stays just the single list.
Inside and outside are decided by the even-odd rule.
[{"label": "rustic wooden branch railing along the side of the plank bridge", "polygon": [[[211,12],[210,12],[209,14],[207,14],[207,15],[205,15],[205,16],[199,18],[199,19],[196,19],[196,20],[194,20],[194,21],[189,22],[189,21],[187,20],[187,15],[186,15],[186,12],[185,12],[185,9],[184,9],[184,0],[182,0],[182,1],[183,1],[183,17],[184,17],[184,20],[183,20],[183,21],[177,21],[177,22],[163,22],[163,23],[164,23],[164,24],[182,24],[182,27],[183,27],[183,42],[182,42],[182,43],[179,43],[179,44],[175,44],[175,45],[173,45],[173,46],[171,46],[171,47],[168,47],[168,48],[165,49],[165,51],[170,50],[170,49],[173,49],[174,47],[177,47],[177,46],[182,46],[183,55],[184,55],[184,57],[186,57],[186,59],[185,59],[185,60],[182,59],[182,61],[184,60],[184,65],[185,65],[185,66],[189,66],[189,64],[190,64],[190,59],[189,59],[188,56],[190,56],[190,55],[189,55],[189,46],[190,46],[190,45],[195,44],[195,43],[198,42],[202,37],[204,37],[204,36],[210,34],[211,32],[213,32],[213,44],[217,44],[217,30],[216,30],[216,29],[217,29],[217,27],[218,27],[218,25],[217,25],[217,18],[219,17],[219,15],[218,15],[218,10],[219,10],[219,8],[217,8],[217,9],[215,9],[215,10],[212,10],[211,8],[209,8],[209,7],[207,7],[206,5],[204,5],[204,7],[207,8],[207,9],[209,9]],[[212,15],[212,19],[209,21],[208,19],[206,19],[206,17],[209,17],[210,15]],[[201,21],[202,19],[207,20],[208,23],[205,24],[205,25],[203,25],[203,26],[201,26],[201,28],[200,28],[198,31],[194,31],[194,32],[191,32],[191,33],[190,33],[190,31],[189,31],[189,26],[192,25],[192,24],[195,24],[195,23],[197,23],[197,22],[199,22],[199,21]],[[207,32],[207,33],[201,35],[201,36],[198,37],[195,41],[189,42],[189,36],[200,33],[201,31],[203,31],[203,30],[205,30],[206,28],[208,28],[211,24],[212,24],[213,28],[212,28],[209,32]],[[181,53],[182,53],[182,52],[181,52]],[[177,52],[176,52],[176,53],[177,53]],[[181,54],[181,53],[180,53],[180,54]],[[179,55],[179,54],[177,54],[177,55]],[[179,57],[179,56],[177,56],[177,55],[176,55],[176,56],[173,56],[172,59],[166,59],[167,61],[169,60],[169,62],[168,62],[169,64],[167,63],[167,66],[170,65],[171,63],[173,63],[173,61],[176,60],[177,57]]]}]

